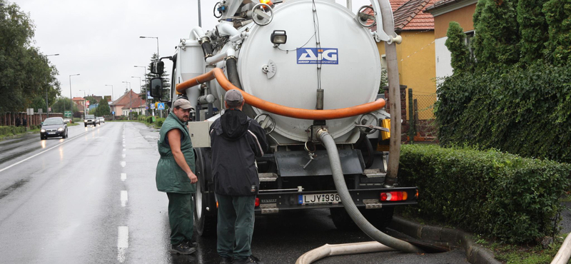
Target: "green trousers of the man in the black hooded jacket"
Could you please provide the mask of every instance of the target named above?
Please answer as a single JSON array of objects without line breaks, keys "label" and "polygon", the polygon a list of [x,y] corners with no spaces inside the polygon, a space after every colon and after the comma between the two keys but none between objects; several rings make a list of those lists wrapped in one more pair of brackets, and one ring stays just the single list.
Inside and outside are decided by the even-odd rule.
[{"label": "green trousers of the man in the black hooded jacket", "polygon": [[218,240],[216,250],[225,258],[242,260],[252,255],[256,196],[223,196],[218,199]]}]

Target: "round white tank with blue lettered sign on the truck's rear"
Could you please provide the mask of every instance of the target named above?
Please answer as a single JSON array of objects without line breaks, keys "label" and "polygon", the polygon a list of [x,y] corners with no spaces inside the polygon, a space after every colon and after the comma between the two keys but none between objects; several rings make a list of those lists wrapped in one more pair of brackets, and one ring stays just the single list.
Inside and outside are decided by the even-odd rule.
[{"label": "round white tank with blue lettered sign on the truck's rear", "polygon": [[[321,59],[320,87],[324,90],[324,108],[357,106],[375,101],[380,85],[380,58],[370,30],[355,21],[355,14],[335,1],[286,1],[273,10],[267,26],[253,25],[250,36],[239,51],[238,74],[244,91],[263,100],[295,108],[315,109],[318,88],[318,60]],[[274,30],[286,31],[285,44],[274,47]],[[315,44],[315,32],[320,50]],[[298,49],[299,48],[299,49]],[[288,51],[285,51],[288,50]],[[268,78],[263,66],[275,65]],[[265,113],[254,108],[256,114]],[[274,133],[304,142],[306,130],[313,124],[270,114],[276,121]],[[327,121],[333,138],[347,136],[359,116]]]}]

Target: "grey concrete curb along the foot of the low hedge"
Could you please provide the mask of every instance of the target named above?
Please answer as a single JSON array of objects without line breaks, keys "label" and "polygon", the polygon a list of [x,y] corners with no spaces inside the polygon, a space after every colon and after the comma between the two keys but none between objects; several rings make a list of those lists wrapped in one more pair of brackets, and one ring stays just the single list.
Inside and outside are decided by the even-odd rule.
[{"label": "grey concrete curb along the foot of the low hedge", "polygon": [[421,225],[396,215],[393,216],[389,228],[413,238],[464,248],[466,258],[472,264],[502,264],[494,258],[492,251],[477,245],[472,239],[472,235],[460,230]]}]

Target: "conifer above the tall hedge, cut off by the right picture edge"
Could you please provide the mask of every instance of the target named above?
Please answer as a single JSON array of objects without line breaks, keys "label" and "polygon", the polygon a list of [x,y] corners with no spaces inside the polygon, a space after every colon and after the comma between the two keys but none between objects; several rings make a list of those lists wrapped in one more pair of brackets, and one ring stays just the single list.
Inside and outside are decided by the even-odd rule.
[{"label": "conifer above the tall hedge, cut off by the right picture edge", "polygon": [[555,65],[571,64],[571,0],[549,0],[542,11],[549,29],[547,56]]}]

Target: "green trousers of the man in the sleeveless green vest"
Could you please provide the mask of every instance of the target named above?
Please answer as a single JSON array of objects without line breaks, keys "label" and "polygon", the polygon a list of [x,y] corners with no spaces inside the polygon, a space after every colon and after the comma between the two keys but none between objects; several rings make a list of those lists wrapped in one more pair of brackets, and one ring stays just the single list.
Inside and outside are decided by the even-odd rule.
[{"label": "green trousers of the man in the sleeveless green vest", "polygon": [[166,193],[168,223],[171,224],[171,244],[178,245],[192,239],[194,205],[191,193]]}]

